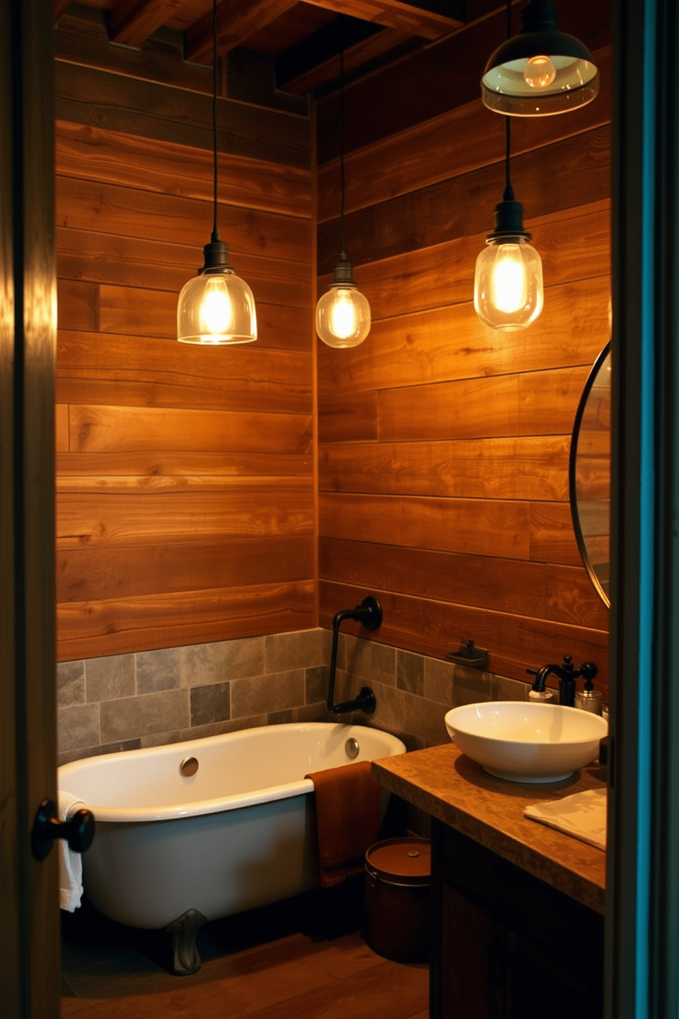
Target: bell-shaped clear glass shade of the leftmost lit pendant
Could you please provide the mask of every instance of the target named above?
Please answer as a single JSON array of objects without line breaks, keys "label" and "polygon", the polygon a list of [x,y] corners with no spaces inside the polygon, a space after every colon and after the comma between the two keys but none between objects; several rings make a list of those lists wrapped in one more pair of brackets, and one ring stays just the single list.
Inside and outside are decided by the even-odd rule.
[{"label": "bell-shaped clear glass shade of the leftmost lit pendant", "polygon": [[232,269],[189,279],[177,304],[177,339],[181,343],[251,343],[257,339],[254,298]]}]

